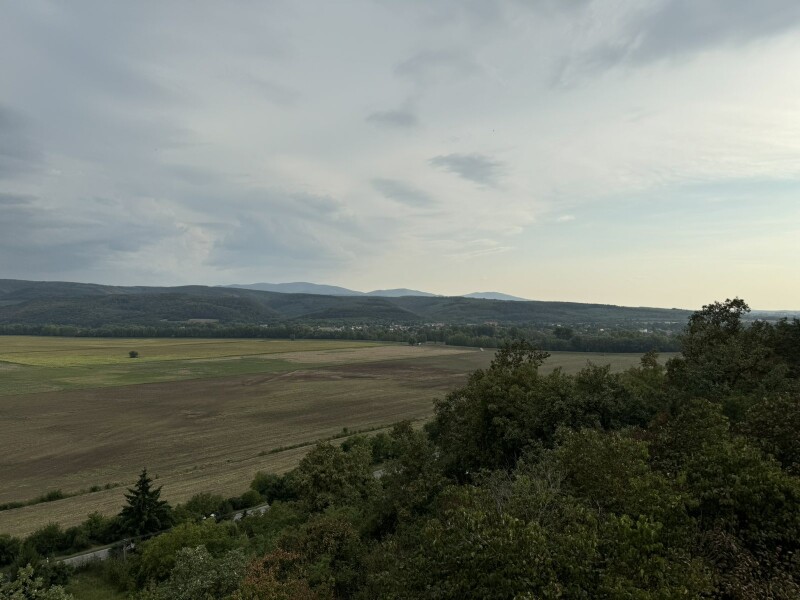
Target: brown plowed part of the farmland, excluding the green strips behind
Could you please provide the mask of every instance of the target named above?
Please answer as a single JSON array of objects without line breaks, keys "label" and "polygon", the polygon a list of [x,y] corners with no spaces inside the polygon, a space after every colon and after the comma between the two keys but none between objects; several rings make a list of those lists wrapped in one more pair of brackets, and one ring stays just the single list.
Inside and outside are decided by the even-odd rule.
[{"label": "brown plowed part of the farmland, excluding the green strips behind", "polygon": [[[488,365],[492,353],[317,346],[271,358],[280,362],[243,375],[85,389],[77,381],[70,390],[1,396],[0,503],[120,485],[0,511],[0,532],[24,535],[51,521],[79,523],[92,511],[116,513],[143,467],[171,502],[201,491],[239,494],[256,471],[288,470],[315,440],[344,427],[429,417],[434,398]],[[548,366],[574,371],[587,360],[623,368],[638,357],[555,354]],[[280,451],[298,444],[307,445]]]}]

